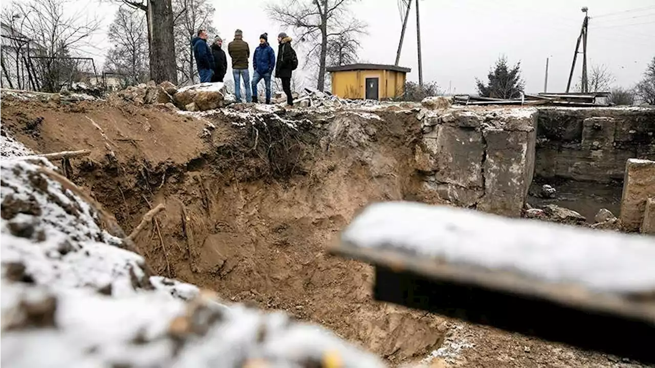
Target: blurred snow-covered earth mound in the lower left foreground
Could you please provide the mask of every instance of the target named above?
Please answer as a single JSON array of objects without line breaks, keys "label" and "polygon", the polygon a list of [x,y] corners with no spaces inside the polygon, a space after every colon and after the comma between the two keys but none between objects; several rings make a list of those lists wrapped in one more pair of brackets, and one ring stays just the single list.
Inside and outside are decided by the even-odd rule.
[{"label": "blurred snow-covered earth mound in the lower left foreground", "polygon": [[149,276],[53,166],[0,150],[0,367],[384,367],[317,325]]}]

